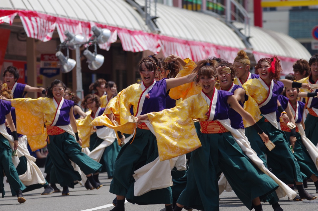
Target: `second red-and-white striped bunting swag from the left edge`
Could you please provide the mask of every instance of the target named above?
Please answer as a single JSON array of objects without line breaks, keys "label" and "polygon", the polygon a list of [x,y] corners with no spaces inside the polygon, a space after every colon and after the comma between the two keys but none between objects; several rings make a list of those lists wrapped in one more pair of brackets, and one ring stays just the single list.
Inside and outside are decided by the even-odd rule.
[{"label": "second red-and-white striped bunting swag from the left edge", "polygon": [[18,14],[28,37],[43,42],[52,39],[56,25],[55,17],[32,11],[19,11]]}]

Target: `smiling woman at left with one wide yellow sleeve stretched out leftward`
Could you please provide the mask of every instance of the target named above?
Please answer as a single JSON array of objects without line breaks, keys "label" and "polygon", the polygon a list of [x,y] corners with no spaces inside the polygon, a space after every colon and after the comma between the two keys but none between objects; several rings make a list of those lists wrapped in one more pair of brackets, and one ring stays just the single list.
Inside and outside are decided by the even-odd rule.
[{"label": "smiling woman at left with one wide yellow sleeve stretched out leftward", "polygon": [[[79,172],[74,170],[69,160],[79,165],[81,171],[86,174],[96,189],[99,189],[100,184],[95,182],[92,173],[100,171],[101,164],[81,151],[79,145],[81,141],[73,115],[74,103],[63,98],[65,90],[65,85],[61,81],[55,80],[46,89],[46,98],[17,98],[12,99],[11,104],[16,108],[17,122],[20,121],[21,125],[24,124],[26,130],[38,129],[42,132],[41,127],[30,128],[25,125],[25,121],[35,120],[40,126],[43,126],[43,114],[45,114],[48,135],[47,149],[53,163],[50,180],[51,183],[59,183],[63,187],[62,195],[69,195],[68,187],[74,188],[73,181],[81,180]],[[25,118],[23,113],[29,115],[29,118]]]}]

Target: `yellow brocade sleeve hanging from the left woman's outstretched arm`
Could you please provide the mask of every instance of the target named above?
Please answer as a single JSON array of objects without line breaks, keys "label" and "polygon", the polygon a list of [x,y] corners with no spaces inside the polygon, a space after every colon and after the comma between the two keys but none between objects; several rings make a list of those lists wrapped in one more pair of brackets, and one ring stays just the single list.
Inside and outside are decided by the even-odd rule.
[{"label": "yellow brocade sleeve hanging from the left woman's outstretched arm", "polygon": [[16,110],[17,133],[27,135],[32,151],[46,146],[46,130],[44,128],[45,98],[16,98],[11,100]]}]

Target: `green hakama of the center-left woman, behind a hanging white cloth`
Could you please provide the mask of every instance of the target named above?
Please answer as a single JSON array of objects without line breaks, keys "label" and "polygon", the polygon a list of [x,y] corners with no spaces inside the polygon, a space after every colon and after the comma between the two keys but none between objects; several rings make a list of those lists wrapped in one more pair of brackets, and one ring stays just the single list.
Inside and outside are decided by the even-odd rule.
[{"label": "green hakama of the center-left woman, behind a hanging white cloth", "polygon": [[131,138],[122,146],[116,162],[110,193],[125,196],[126,200],[139,205],[171,204],[171,187],[149,191],[141,196],[134,195],[134,171],[158,157],[156,136],[150,130],[136,129],[135,139]]}]

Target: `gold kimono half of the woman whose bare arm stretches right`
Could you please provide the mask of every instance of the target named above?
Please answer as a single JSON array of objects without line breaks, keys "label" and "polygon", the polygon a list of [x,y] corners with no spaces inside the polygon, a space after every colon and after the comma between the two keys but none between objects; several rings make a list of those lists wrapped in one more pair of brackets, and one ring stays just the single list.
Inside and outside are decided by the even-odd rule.
[{"label": "gold kimono half of the woman whose bare arm stretches right", "polygon": [[[130,107],[133,106],[134,115],[136,115],[136,108],[138,106],[139,97],[142,94],[141,84],[133,84],[118,93],[112,98],[104,111],[104,114],[96,117],[91,125],[102,126],[105,125],[122,133],[133,134],[135,131],[135,123],[128,122],[128,116],[131,116]],[[119,126],[115,126],[106,114],[114,113],[115,120]]]}]

